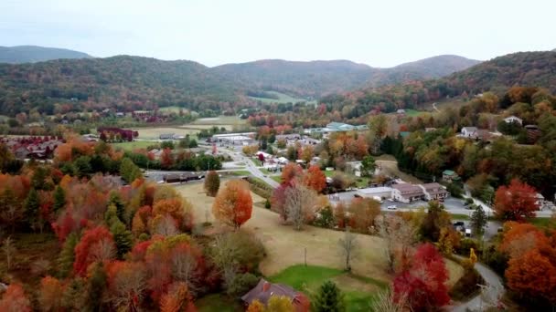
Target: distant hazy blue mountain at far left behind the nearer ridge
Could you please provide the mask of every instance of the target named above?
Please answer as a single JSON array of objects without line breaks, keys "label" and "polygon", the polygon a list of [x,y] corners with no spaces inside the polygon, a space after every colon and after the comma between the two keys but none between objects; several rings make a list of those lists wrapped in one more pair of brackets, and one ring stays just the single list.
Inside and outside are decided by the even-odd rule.
[{"label": "distant hazy blue mountain at far left behind the nearer ridge", "polygon": [[91,58],[91,56],[86,53],[56,47],[0,47],[0,63],[34,63],[59,58]]}]

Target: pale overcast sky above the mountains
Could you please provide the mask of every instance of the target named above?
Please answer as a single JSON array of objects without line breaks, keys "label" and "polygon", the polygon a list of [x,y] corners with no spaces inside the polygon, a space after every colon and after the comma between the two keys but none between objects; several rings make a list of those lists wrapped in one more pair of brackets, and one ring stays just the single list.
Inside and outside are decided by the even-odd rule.
[{"label": "pale overcast sky above the mountains", "polygon": [[0,46],[207,66],[281,58],[388,68],[551,50],[555,11],[552,0],[0,0]]}]

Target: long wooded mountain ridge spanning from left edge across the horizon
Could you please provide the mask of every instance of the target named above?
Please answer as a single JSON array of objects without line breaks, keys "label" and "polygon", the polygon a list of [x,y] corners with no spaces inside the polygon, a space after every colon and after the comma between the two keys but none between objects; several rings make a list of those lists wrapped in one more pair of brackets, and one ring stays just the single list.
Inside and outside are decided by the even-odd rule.
[{"label": "long wooded mountain ridge spanning from left edge across the horizon", "polygon": [[[456,59],[456,60],[454,60]],[[305,99],[354,88],[436,78],[469,66],[463,57],[432,57],[396,68],[371,68],[347,60],[260,60],[208,68],[192,61],[148,57],[56,59],[0,63],[0,114],[37,108],[148,109],[182,106],[198,111],[256,105],[247,97],[280,91]]]}]

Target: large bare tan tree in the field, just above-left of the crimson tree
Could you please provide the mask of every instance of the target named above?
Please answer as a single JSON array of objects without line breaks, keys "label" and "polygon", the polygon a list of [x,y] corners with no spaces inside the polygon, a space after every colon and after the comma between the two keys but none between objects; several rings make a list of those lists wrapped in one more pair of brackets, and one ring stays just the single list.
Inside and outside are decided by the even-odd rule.
[{"label": "large bare tan tree in the field, just above-left of the crimson tree", "polygon": [[[394,272],[397,261],[401,262],[401,265],[405,265],[409,261],[412,245],[415,242],[416,230],[401,217],[393,214],[378,216],[376,224],[379,235],[386,244],[384,252],[389,271]],[[399,258],[396,258],[397,255],[399,255]]]}]

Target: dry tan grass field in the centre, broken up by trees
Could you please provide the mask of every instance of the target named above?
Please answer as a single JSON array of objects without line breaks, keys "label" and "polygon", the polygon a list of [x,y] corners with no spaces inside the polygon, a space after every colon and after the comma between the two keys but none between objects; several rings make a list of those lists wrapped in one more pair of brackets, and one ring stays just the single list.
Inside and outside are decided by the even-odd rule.
[{"label": "dry tan grass field in the centre, broken up by trees", "polygon": [[[220,185],[225,180],[222,179]],[[176,190],[192,203],[193,218],[197,220],[195,223],[214,222],[211,213],[214,198],[205,194],[202,183],[176,185]],[[253,212],[251,219],[242,228],[261,239],[266,248],[267,256],[260,267],[264,276],[274,276],[292,265],[303,264],[305,248],[307,264],[343,269],[342,256],[337,245],[338,240],[344,237],[343,232],[314,226],[305,226],[303,231],[294,231],[291,226],[280,224],[276,213],[259,208],[264,203],[262,197],[252,192],[251,196],[255,203]],[[356,235],[360,253],[353,261],[353,274],[390,282],[390,275],[385,271],[387,264],[382,240],[371,235]],[[453,285],[463,275],[463,268],[449,260],[446,263],[450,270],[450,285]]]}]

